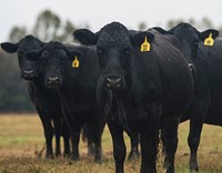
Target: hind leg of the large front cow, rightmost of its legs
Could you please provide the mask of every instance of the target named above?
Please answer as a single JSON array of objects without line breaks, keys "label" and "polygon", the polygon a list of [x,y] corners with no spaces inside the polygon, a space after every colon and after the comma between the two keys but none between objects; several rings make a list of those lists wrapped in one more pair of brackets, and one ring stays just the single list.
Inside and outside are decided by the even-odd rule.
[{"label": "hind leg of the large front cow, rightmost of its legs", "polygon": [[167,169],[167,173],[174,173],[174,155],[175,151],[178,149],[178,125],[179,125],[180,119],[174,118],[164,121],[164,124],[167,125],[163,129],[163,144],[164,144],[164,152],[165,152],[165,160],[164,160],[164,166]]}]

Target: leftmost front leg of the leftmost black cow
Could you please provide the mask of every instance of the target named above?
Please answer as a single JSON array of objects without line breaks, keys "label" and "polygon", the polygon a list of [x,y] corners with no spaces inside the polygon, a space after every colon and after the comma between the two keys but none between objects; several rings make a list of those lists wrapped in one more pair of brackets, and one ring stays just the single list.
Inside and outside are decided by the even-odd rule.
[{"label": "leftmost front leg of the leftmost black cow", "polygon": [[47,159],[53,159],[53,151],[52,151],[52,138],[53,138],[53,128],[51,124],[51,120],[49,115],[47,115],[39,106],[36,106],[37,112],[40,116],[41,123],[43,125],[43,132],[44,132],[44,139],[47,142],[47,151],[46,151],[46,157]]}]

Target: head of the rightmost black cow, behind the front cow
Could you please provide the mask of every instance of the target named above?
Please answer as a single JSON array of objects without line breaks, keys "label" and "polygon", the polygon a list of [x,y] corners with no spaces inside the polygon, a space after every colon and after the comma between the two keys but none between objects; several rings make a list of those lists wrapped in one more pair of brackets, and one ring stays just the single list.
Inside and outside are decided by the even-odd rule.
[{"label": "head of the rightmost black cow, behind the front cow", "polygon": [[212,39],[215,39],[219,34],[216,30],[212,29],[199,32],[189,23],[180,23],[172,28],[169,32],[174,34],[180,40],[182,53],[186,58],[191,70],[195,69],[194,61],[198,52],[200,51],[200,47],[203,45],[205,39],[209,38],[210,34],[212,35]]}]

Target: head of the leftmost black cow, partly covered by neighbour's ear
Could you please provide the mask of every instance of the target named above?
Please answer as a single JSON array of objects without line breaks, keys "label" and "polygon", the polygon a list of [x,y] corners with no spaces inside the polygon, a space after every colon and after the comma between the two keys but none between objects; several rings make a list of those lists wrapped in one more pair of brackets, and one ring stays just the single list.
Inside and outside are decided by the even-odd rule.
[{"label": "head of the leftmost black cow, partly covered by neighbour's ear", "polygon": [[32,35],[27,35],[18,43],[3,42],[1,48],[8,53],[17,53],[19,67],[21,70],[21,77],[26,80],[31,80],[38,77],[36,62],[31,62],[26,59],[26,53],[33,50],[40,50],[43,47],[43,42]]}]

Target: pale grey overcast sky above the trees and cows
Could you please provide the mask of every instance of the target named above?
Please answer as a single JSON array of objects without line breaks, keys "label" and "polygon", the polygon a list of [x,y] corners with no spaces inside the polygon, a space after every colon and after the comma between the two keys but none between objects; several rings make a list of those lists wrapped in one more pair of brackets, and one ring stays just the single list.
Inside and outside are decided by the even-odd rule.
[{"label": "pale grey overcast sky above the trees and cows", "polygon": [[164,28],[170,19],[200,21],[204,17],[222,26],[222,0],[0,0],[0,42],[7,41],[13,26],[33,27],[46,9],[74,26],[89,23],[92,31],[112,21],[131,29],[140,22]]}]

